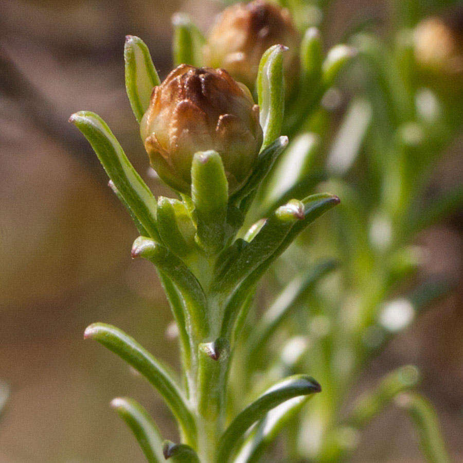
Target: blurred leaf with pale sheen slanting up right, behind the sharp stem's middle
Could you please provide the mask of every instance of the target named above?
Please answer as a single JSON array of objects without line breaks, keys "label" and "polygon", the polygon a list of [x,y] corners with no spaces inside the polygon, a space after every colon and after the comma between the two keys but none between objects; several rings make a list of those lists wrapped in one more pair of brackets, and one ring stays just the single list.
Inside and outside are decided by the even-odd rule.
[{"label": "blurred leaf with pale sheen slanting up right, behind the sharp stem's middle", "polygon": [[278,295],[272,306],[259,320],[255,335],[249,343],[248,362],[253,364],[255,356],[263,348],[265,343],[275,330],[281,326],[283,320],[294,310],[298,302],[315,284],[336,268],[337,261],[327,259],[318,263],[315,268],[294,278]]}]

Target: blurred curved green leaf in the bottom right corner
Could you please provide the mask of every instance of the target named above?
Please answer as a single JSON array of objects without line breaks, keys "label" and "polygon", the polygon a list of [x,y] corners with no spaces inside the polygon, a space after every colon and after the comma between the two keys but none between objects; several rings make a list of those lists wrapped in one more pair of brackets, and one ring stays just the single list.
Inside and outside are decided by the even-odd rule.
[{"label": "blurred curved green leaf in the bottom right corner", "polygon": [[403,393],[396,398],[396,405],[410,415],[426,460],[429,463],[450,463],[439,420],[429,400],[417,393]]}]

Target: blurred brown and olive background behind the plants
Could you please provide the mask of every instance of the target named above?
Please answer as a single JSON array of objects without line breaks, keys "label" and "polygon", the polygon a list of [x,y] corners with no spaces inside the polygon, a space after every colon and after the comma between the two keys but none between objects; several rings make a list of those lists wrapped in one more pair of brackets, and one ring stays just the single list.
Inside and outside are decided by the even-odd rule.
[{"label": "blurred brown and olive background behind the plants", "polygon": [[[0,0],[0,380],[10,390],[0,418],[1,462],[143,461],[109,407],[114,396],[139,399],[163,435],[175,438],[149,384],[83,340],[88,324],[111,323],[158,358],[178,363],[155,272],[130,258],[136,230],[67,119],[82,109],[97,112],[155,194],[169,195],[148,170],[125,93],[124,35],[144,39],[164,78],[171,69],[171,15],[186,11],[206,31],[220,9],[206,0]],[[342,41],[360,20],[374,19],[386,34],[393,15],[390,2],[333,1],[324,20],[326,45]],[[462,161],[460,135],[434,182],[461,182]],[[461,219],[454,214],[417,238],[427,250],[422,272],[461,283]],[[418,365],[455,461],[463,460],[461,288],[456,284],[397,336],[359,385],[367,387],[390,366]],[[368,426],[352,461],[421,457],[411,425],[390,409]]]}]

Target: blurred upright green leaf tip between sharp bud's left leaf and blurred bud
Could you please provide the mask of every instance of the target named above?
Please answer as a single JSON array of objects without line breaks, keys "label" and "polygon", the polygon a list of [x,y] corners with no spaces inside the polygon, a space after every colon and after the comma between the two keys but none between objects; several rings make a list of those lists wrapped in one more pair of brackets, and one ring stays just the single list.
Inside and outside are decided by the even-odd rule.
[{"label": "blurred upright green leaf tip between sharp bud's left leaf and blurred bud", "polygon": [[172,16],[172,25],[174,27],[174,65],[191,64],[201,67],[202,47],[205,40],[198,27],[191,22],[190,17],[185,13],[175,13]]}]

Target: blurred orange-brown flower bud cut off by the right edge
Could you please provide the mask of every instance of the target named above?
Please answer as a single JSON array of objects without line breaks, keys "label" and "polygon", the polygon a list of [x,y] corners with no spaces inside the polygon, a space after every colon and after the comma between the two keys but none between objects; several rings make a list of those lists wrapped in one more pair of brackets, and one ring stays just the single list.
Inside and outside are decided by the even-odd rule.
[{"label": "blurred orange-brown flower bud cut off by the right edge", "polygon": [[[428,17],[414,31],[415,57],[426,68],[448,74],[463,72],[463,10],[446,20]],[[459,17],[459,21],[458,21]]]}]

